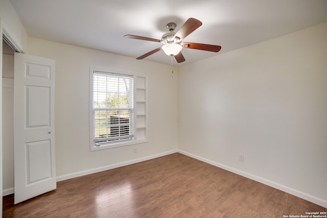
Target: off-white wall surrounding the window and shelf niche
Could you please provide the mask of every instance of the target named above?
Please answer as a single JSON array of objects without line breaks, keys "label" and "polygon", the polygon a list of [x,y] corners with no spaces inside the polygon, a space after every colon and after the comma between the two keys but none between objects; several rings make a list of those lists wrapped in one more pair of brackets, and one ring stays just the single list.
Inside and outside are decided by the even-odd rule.
[{"label": "off-white wall surrounding the window and shelf niche", "polygon": [[[171,79],[171,66],[36,38],[30,38],[28,50],[31,55],[56,60],[55,142],[58,177],[64,179],[70,174],[77,175],[78,172],[98,167],[176,151],[177,77]],[[148,76],[149,142],[90,152],[90,67]],[[136,154],[133,153],[134,147],[137,148]]]}]

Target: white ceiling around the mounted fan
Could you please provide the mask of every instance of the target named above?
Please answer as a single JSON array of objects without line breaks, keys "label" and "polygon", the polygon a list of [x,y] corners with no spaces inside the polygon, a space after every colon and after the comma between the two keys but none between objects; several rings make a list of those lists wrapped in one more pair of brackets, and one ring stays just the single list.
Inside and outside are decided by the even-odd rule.
[{"label": "white ceiling around the mounted fan", "polygon": [[[183,41],[221,45],[219,53],[183,49],[194,62],[327,21],[326,0],[10,0],[32,37],[139,57],[160,47],[169,22],[203,25]],[[282,52],[282,51],[281,51]],[[163,51],[145,60],[171,64]],[[139,60],[144,61],[144,60]]]}]

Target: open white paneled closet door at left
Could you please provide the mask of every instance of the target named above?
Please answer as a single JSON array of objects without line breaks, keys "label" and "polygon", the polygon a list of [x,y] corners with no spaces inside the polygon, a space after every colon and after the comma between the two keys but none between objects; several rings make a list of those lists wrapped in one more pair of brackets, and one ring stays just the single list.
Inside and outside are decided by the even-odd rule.
[{"label": "open white paneled closet door at left", "polygon": [[55,60],[15,53],[15,204],[56,189]]}]

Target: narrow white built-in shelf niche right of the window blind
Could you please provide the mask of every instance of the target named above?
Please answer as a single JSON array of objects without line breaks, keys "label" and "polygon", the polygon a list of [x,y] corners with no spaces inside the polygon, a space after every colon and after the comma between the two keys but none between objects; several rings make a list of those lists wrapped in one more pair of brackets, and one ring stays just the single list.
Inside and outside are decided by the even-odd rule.
[{"label": "narrow white built-in shelf niche right of the window blind", "polygon": [[147,139],[147,78],[135,77],[135,137],[136,140]]}]

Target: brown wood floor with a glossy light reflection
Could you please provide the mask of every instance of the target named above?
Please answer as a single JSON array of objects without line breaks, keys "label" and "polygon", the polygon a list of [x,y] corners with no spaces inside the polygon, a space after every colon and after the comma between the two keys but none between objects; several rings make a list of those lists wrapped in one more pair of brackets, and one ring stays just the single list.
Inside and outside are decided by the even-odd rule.
[{"label": "brown wood floor with a glossy light reflection", "polygon": [[[326,208],[179,153],[65,180],[3,217],[283,217]],[[286,216],[284,216],[286,217]]]}]

